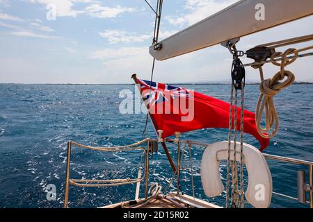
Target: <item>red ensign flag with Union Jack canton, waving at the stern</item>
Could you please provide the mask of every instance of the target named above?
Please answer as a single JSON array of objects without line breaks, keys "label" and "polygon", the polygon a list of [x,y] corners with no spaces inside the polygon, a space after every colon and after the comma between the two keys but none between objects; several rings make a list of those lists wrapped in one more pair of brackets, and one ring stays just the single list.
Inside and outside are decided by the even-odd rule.
[{"label": "red ensign flag with Union Jack canton, waving at the stern", "polygon": [[[230,103],[211,96],[193,92],[182,87],[163,83],[154,83],[137,79],[141,96],[146,105],[156,130],[163,130],[163,138],[202,128],[228,128]],[[233,108],[234,110],[234,108]],[[234,112],[234,111],[233,111]],[[241,108],[237,108],[237,130],[240,130]],[[261,137],[255,124],[255,113],[243,111],[243,131],[254,136],[263,151],[269,139]],[[232,117],[234,126],[234,115]]]}]

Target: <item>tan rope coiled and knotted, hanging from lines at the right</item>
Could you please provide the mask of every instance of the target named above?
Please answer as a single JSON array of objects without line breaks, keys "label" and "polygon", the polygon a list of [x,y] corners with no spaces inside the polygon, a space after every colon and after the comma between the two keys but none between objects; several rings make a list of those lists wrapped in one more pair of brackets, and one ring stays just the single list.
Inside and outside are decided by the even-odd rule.
[{"label": "tan rope coiled and knotted, hanging from lines at the right", "polygon": [[[268,49],[274,50],[275,48],[287,46],[289,44],[298,44],[311,40],[313,40],[313,35],[307,35],[303,37],[296,37],[289,40],[271,42],[257,47],[258,48],[268,47]],[[274,52],[271,55],[270,60],[258,61],[252,64],[245,65],[245,66],[251,65],[252,67],[259,69],[259,74],[262,81],[259,85],[260,94],[259,99],[257,101],[257,107],[255,112],[257,131],[259,135],[261,135],[262,137],[272,138],[278,133],[279,117],[278,112],[275,108],[273,97],[277,95],[282,89],[285,89],[292,85],[295,80],[295,75],[291,71],[285,70],[285,67],[295,62],[297,58],[304,56],[313,56],[312,52],[299,55],[300,52],[307,51],[310,49],[313,49],[313,46],[307,46],[303,49],[291,48],[284,51],[284,53]],[[278,71],[278,73],[276,73],[273,76],[273,78],[268,78],[264,80],[262,65],[264,65],[264,63],[267,62],[271,62],[273,65],[279,66],[280,71]],[[265,128],[262,128],[261,122],[264,116],[264,112],[265,112]]]}]

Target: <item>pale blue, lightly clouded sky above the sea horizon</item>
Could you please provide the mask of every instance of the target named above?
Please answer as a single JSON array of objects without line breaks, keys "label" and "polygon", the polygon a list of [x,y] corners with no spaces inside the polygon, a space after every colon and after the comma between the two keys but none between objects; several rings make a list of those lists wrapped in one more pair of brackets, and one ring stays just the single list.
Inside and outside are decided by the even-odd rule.
[{"label": "pale blue, lightly clouded sky above the sea horizon", "polygon": [[[156,6],[156,0],[150,0]],[[164,0],[160,39],[230,6],[235,0]],[[54,13],[56,17],[54,19]],[[0,83],[132,83],[150,79],[154,14],[144,0],[0,0]],[[242,37],[255,45],[313,33],[313,16]],[[307,46],[298,44],[296,48]],[[163,83],[230,82],[232,56],[223,46],[157,61],[154,80]],[[251,62],[244,59],[243,62]],[[313,82],[312,57],[287,69]],[[265,78],[279,67],[264,66]],[[259,73],[247,68],[247,81]]]}]

